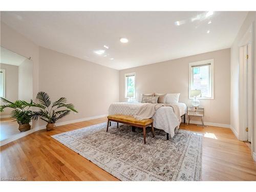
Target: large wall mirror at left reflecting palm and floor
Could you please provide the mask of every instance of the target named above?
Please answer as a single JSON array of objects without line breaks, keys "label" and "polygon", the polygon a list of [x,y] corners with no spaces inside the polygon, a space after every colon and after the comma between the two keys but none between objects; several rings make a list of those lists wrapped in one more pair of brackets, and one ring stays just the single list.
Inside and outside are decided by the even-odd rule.
[{"label": "large wall mirror at left reflecting palm and floor", "polygon": [[1,107],[8,105],[0,113],[0,140],[3,141],[31,129],[30,109],[18,100],[30,102],[33,98],[33,62],[4,47],[0,49]]}]

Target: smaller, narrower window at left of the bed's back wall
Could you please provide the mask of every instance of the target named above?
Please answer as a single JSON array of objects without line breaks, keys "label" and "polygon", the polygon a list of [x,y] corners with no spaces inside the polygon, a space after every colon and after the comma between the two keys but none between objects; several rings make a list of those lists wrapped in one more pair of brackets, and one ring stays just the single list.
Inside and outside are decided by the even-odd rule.
[{"label": "smaller, narrower window at left of the bed's back wall", "polygon": [[127,73],[124,75],[124,83],[125,83],[125,90],[124,90],[124,98],[130,98],[127,96],[127,93],[133,93],[133,99],[136,98],[136,78],[135,73]]}]

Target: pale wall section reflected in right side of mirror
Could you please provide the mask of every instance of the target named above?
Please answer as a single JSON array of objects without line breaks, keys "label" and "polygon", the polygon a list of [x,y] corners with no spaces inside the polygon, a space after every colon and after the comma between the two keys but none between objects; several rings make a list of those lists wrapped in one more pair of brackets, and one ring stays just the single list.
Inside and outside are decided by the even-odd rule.
[{"label": "pale wall section reflected in right side of mirror", "polygon": [[33,98],[33,62],[26,59],[18,67],[18,99],[30,102]]}]

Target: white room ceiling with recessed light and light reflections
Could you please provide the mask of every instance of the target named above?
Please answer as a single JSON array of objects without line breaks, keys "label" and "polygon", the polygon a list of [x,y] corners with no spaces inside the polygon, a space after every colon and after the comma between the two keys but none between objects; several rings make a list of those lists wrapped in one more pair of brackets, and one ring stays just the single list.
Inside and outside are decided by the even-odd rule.
[{"label": "white room ceiling with recessed light and light reflections", "polygon": [[[206,13],[1,12],[1,20],[39,46],[121,70],[230,48],[247,12]],[[94,53],[101,49],[107,56]]]}]

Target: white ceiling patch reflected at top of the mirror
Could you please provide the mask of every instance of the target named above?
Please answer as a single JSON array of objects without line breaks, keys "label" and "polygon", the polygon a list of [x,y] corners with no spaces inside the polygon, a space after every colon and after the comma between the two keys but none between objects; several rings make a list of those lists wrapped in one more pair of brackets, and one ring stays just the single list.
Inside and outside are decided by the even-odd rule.
[{"label": "white ceiling patch reflected at top of the mirror", "polygon": [[0,62],[8,65],[19,66],[22,64],[27,58],[18,55],[8,49],[0,47]]}]

